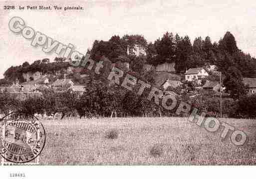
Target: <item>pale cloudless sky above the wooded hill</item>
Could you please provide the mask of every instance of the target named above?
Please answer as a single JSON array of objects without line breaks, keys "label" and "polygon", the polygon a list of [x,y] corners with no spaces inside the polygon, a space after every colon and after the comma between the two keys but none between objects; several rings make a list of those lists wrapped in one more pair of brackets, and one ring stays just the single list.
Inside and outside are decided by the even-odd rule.
[{"label": "pale cloudless sky above the wooded hill", "polygon": [[[3,10],[3,5],[15,10]],[[25,6],[24,10],[18,7]],[[26,10],[26,5],[82,6],[83,10]],[[166,32],[188,35],[193,43],[198,36],[219,41],[227,31],[237,45],[256,56],[255,0],[126,0],[126,1],[0,1],[0,78],[11,65],[57,56],[32,47],[31,40],[8,28],[9,20],[21,17],[25,26],[57,40],[71,43],[81,53],[94,40],[109,40],[112,35],[142,34],[154,42]]]}]

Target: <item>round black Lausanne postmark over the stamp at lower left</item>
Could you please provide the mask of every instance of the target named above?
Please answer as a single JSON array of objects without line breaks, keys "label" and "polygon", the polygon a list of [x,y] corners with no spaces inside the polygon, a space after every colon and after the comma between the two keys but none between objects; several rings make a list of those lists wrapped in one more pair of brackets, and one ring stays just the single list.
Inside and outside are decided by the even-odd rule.
[{"label": "round black Lausanne postmark over the stamp at lower left", "polygon": [[1,122],[1,156],[13,163],[34,160],[43,150],[45,130],[38,119],[23,113],[13,113]]}]

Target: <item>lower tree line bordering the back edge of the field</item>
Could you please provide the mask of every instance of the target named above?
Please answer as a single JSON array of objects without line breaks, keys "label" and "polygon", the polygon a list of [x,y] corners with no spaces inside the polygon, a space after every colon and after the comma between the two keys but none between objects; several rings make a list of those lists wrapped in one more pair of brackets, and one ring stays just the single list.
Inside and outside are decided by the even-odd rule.
[{"label": "lower tree line bordering the back edge of the field", "polygon": [[[83,94],[73,92],[68,88],[62,92],[45,89],[41,96],[27,95],[26,98],[20,100],[18,94],[0,93],[0,113],[7,115],[18,111],[27,115],[40,114],[42,116],[44,114],[54,116],[58,113],[60,119],[77,116],[80,118],[95,116],[178,117],[175,112],[180,102],[183,101],[192,106],[191,112],[197,108],[199,113],[204,111],[207,116],[220,117],[220,98],[213,93],[198,95],[195,98],[190,98],[186,93],[176,96],[177,105],[170,111],[156,105],[154,99],[152,101],[147,99],[149,89],[145,90],[142,95],[137,95],[135,91],[138,90],[138,86],[135,88],[134,91],[129,91],[119,85],[109,85],[103,79],[92,78]],[[168,101],[167,105],[171,105],[171,101]],[[255,108],[256,96],[244,95],[238,100],[223,99],[224,117],[255,118]],[[184,115],[188,117],[187,114],[181,114],[179,117],[184,117]]]}]

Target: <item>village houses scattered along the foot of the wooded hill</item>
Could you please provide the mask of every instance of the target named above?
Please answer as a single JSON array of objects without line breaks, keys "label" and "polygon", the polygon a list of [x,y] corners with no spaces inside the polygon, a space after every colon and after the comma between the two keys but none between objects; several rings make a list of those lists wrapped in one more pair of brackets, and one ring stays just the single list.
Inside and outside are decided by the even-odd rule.
[{"label": "village houses scattered along the foot of the wooded hill", "polygon": [[[129,67],[129,64],[126,63]],[[220,80],[211,81],[209,77],[211,75],[220,76],[220,72],[217,70],[216,65],[209,65],[199,68],[190,68],[186,73],[182,75],[175,74],[175,63],[164,63],[157,65],[155,85],[163,89],[165,94],[170,94],[174,96],[179,96],[184,92],[188,92],[190,97],[194,97],[200,92],[213,92],[216,96],[222,95],[224,97],[229,97],[228,92],[225,91],[225,86],[220,84]],[[151,70],[154,66],[145,64],[143,69],[146,71]],[[73,70],[70,67],[69,71]],[[72,92],[84,93],[85,85],[75,83],[71,78],[56,79],[55,81],[50,81],[46,75],[42,75],[40,72],[35,72],[30,76],[33,76],[33,80],[29,74],[26,77],[25,82],[20,83],[18,79],[13,81],[11,85],[0,86],[0,92],[8,92],[11,94],[19,95],[41,95],[41,91],[44,89],[53,89],[55,91],[61,92],[66,89],[70,89]],[[88,75],[81,75],[83,78],[88,77]],[[248,95],[254,95],[256,93],[256,78],[243,78],[243,82],[248,86]],[[174,92],[176,91],[176,92]],[[206,93],[207,94],[207,93]]]}]

